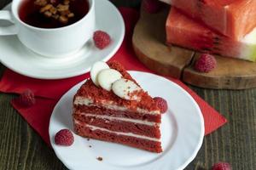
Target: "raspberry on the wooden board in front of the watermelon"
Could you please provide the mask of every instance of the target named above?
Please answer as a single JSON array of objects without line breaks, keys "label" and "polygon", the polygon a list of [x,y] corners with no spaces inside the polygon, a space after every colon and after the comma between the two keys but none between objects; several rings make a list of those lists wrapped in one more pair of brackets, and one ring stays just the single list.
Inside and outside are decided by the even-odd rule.
[{"label": "raspberry on the wooden board in front of the watermelon", "polygon": [[201,54],[200,58],[196,60],[194,69],[199,72],[210,72],[217,65],[217,61],[213,55]]}]

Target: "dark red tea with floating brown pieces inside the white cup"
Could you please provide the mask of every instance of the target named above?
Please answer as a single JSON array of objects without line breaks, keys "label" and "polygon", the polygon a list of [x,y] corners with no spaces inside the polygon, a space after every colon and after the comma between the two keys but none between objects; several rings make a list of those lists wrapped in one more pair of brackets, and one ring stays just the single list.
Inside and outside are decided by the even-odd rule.
[{"label": "dark red tea with floating brown pieces inside the white cup", "polygon": [[88,0],[23,0],[19,16],[30,26],[59,28],[81,20],[88,11]]}]

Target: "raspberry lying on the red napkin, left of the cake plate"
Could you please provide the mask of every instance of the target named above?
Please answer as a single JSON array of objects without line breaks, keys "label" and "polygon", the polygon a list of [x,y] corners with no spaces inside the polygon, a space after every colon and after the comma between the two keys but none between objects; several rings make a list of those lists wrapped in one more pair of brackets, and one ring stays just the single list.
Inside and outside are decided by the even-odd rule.
[{"label": "raspberry lying on the red napkin, left of the cake plate", "polygon": [[30,89],[26,89],[16,101],[25,107],[35,105],[36,99],[34,93]]}]

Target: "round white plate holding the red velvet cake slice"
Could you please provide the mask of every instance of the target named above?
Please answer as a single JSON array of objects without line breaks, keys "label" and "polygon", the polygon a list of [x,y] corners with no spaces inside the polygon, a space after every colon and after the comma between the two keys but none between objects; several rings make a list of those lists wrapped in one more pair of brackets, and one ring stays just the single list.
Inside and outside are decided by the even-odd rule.
[{"label": "round white plate holding the red velvet cake slice", "polygon": [[[88,141],[76,134],[72,146],[56,145],[55,133],[62,128],[73,129],[73,95],[84,83],[80,82],[55,105],[49,122],[50,143],[66,167],[75,170],[177,170],[195,158],[204,136],[204,121],[195,100],[183,88],[163,77],[139,71],[130,73],[148,94],[163,97],[168,102],[169,110],[162,116],[160,126],[164,152],[155,154],[122,144]],[[97,161],[98,156],[102,156],[103,161]]]}]

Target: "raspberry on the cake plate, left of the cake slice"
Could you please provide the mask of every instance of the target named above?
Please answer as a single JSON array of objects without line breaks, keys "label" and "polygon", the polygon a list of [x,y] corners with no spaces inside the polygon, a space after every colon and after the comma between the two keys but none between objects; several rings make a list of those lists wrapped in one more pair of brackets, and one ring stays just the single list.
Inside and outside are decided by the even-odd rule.
[{"label": "raspberry on the cake plate, left of the cake slice", "polygon": [[70,146],[73,144],[73,133],[68,129],[62,129],[55,134],[55,144]]}]

